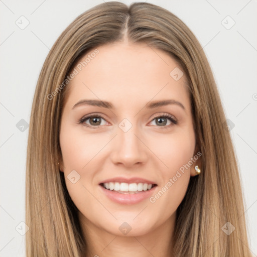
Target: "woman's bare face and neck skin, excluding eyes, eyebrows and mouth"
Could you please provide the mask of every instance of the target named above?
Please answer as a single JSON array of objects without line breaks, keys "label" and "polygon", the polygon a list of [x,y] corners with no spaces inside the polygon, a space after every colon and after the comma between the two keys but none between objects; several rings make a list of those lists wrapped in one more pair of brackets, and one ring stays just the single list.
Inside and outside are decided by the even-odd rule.
[{"label": "woman's bare face and neck skin, excluding eyes, eyebrows and mouth", "polygon": [[[178,67],[174,59],[143,43],[124,41],[97,49],[99,53],[68,85],[60,127],[60,170],[79,209],[88,243],[85,256],[172,256],[176,210],[190,176],[196,175],[199,159],[154,203],[149,198],[137,204],[115,203],[98,184],[117,176],[140,177],[156,182],[155,195],[194,157],[196,142],[186,78],[175,81],[170,76]],[[109,101],[113,109],[90,105],[72,109],[82,99]],[[145,107],[149,101],[166,99],[179,101],[185,109],[176,104]],[[164,118],[164,129],[154,115],[166,113],[178,123]],[[79,124],[87,114],[101,114],[104,119],[96,129],[90,119],[84,123],[91,127]],[[127,132],[118,126],[124,118],[132,124]],[[67,178],[72,170],[80,175],[75,184]],[[119,230],[123,222],[132,228],[126,235]]]}]

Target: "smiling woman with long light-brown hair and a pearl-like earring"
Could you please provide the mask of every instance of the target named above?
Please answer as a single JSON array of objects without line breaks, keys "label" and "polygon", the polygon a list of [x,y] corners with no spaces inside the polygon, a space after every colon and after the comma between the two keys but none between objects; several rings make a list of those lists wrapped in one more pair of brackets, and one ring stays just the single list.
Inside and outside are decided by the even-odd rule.
[{"label": "smiling woman with long light-brown hair and a pearl-like earring", "polygon": [[28,256],[251,256],[201,50],[148,3],[98,5],[62,33],[32,106]]}]

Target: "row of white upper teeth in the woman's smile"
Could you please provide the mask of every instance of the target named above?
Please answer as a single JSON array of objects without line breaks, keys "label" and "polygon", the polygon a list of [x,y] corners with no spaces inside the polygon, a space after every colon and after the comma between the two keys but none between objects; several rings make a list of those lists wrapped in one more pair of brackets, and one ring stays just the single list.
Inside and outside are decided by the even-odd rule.
[{"label": "row of white upper teeth in the woman's smile", "polygon": [[109,182],[103,183],[104,188],[114,191],[122,191],[122,192],[137,192],[137,191],[147,191],[152,188],[152,184],[147,183],[118,183],[118,182]]}]

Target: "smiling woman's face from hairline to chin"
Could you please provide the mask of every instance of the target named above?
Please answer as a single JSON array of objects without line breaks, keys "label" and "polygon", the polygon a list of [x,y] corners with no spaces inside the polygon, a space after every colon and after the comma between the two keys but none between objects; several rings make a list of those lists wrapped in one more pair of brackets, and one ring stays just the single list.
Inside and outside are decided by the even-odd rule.
[{"label": "smiling woman's face from hairline to chin", "polygon": [[186,78],[145,44],[97,49],[68,85],[60,170],[83,224],[143,235],[171,222],[195,175]]}]

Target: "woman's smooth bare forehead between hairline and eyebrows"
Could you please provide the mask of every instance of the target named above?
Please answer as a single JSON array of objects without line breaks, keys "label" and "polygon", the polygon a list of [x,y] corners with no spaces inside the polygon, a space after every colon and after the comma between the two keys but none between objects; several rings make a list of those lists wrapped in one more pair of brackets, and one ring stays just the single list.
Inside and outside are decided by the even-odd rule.
[{"label": "woman's smooth bare forehead between hairline and eyebrows", "polygon": [[115,103],[127,106],[171,98],[190,105],[186,78],[178,63],[168,53],[145,43],[97,47],[74,68],[77,74],[68,84],[68,105],[82,98],[108,100],[114,107],[120,107]]}]

